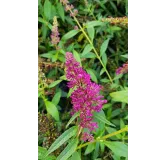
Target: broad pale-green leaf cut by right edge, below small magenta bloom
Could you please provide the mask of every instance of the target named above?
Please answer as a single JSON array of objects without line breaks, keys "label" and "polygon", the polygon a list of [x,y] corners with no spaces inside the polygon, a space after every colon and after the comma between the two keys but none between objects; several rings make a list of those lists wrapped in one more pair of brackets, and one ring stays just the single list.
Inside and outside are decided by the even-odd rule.
[{"label": "broad pale-green leaf cut by right edge, below small magenta bloom", "polygon": [[128,89],[110,93],[110,96],[116,102],[128,103]]}]

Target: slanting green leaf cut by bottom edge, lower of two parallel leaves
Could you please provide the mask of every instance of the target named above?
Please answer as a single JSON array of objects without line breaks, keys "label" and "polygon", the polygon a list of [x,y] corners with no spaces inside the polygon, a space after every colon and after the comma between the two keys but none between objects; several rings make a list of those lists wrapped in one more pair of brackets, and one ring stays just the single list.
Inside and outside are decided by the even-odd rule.
[{"label": "slanting green leaf cut by bottom edge, lower of two parallel leaves", "polygon": [[67,147],[61,152],[56,160],[67,160],[76,150],[78,138],[73,139]]}]

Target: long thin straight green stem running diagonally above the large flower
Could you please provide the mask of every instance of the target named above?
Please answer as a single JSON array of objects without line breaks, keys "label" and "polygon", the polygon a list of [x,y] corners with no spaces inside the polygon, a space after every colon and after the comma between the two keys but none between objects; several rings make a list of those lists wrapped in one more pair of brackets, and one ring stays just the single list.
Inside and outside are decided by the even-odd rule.
[{"label": "long thin straight green stem running diagonally above the large flower", "polygon": [[[70,10],[70,12],[72,13],[71,10]],[[90,40],[90,38],[88,37],[88,35],[87,35],[86,32],[84,31],[84,29],[81,27],[80,23],[78,22],[78,20],[77,20],[77,18],[76,18],[75,16],[74,16],[74,20],[75,20],[76,23],[78,24],[79,28],[81,29],[81,31],[82,31],[82,33],[84,34],[84,36],[86,37],[86,39],[87,39],[87,40],[89,41],[89,43],[91,44],[91,46],[92,46],[92,48],[93,48],[93,50],[94,50],[94,52],[95,52],[97,58],[99,59],[101,65],[103,66],[103,68],[104,68],[104,70],[105,70],[105,72],[106,72],[106,74],[107,74],[107,76],[108,76],[110,82],[112,83],[112,78],[111,78],[110,74],[108,73],[108,71],[107,71],[107,69],[106,69],[106,66],[103,64],[103,62],[102,62],[102,60],[101,60],[99,54],[97,53],[95,47],[93,46],[92,41]]]}]

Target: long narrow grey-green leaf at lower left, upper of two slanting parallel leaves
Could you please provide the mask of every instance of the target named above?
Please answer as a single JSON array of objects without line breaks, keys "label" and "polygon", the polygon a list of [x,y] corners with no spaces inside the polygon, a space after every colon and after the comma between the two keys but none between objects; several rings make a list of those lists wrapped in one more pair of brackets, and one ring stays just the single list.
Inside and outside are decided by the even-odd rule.
[{"label": "long narrow grey-green leaf at lower left, upper of two slanting parallel leaves", "polygon": [[59,148],[62,144],[64,144],[67,140],[69,140],[71,137],[76,135],[77,133],[77,126],[73,126],[66,130],[61,136],[59,136],[55,142],[51,145],[51,147],[48,149],[45,156],[49,155],[50,153],[54,152],[57,148]]}]

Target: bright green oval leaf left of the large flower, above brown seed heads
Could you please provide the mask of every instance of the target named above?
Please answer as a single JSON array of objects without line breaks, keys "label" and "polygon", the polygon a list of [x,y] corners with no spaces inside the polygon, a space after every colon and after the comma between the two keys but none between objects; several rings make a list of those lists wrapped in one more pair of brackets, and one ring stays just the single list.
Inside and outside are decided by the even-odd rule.
[{"label": "bright green oval leaf left of the large flower, above brown seed heads", "polygon": [[59,112],[56,106],[50,102],[50,101],[45,101],[46,109],[47,112],[56,120],[59,121]]}]

